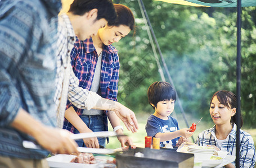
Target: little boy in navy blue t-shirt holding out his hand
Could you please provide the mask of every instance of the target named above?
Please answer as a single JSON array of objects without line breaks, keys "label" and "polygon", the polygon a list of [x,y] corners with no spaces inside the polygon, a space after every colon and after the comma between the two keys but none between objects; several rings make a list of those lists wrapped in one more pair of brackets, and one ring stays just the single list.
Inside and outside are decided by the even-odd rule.
[{"label": "little boy in navy blue t-shirt holding out his hand", "polygon": [[155,113],[147,119],[147,136],[160,138],[160,146],[172,144],[176,146],[178,138],[191,137],[190,128],[179,129],[177,119],[169,116],[174,110],[176,90],[168,82],[154,82],[147,90],[149,104]]}]

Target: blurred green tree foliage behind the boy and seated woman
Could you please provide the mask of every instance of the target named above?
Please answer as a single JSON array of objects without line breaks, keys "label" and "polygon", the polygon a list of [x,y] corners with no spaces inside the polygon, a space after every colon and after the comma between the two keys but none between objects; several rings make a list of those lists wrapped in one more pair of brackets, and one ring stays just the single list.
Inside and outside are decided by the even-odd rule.
[{"label": "blurred green tree foliage behind the boy and seated woman", "polygon": [[[136,33],[131,32],[114,44],[121,66],[118,100],[135,113],[153,113],[147,102],[147,88],[161,78],[147,27],[138,1],[120,3],[133,11]],[[185,113],[210,121],[209,101],[214,92],[236,93],[236,9],[198,8],[151,0],[143,3]],[[255,7],[242,8],[241,113],[248,127],[253,127],[256,119],[255,14]],[[169,82],[166,73],[165,78]],[[178,104],[175,110],[180,113]]]}]

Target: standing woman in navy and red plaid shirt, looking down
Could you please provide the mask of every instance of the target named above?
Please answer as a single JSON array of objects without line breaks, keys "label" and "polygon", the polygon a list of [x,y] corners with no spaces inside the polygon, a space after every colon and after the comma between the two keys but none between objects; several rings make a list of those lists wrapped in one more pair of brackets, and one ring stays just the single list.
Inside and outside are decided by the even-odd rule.
[{"label": "standing woman in navy and red plaid shirt, looking down", "polygon": [[[98,30],[97,35],[84,41],[76,40],[71,52],[71,66],[79,79],[79,86],[97,92],[100,96],[117,101],[119,79],[118,51],[112,43],[128,35],[134,27],[132,11],[122,4],[114,4],[118,16],[114,25]],[[73,133],[98,132],[107,129],[109,118],[114,131],[123,133],[118,116],[113,111],[84,110],[67,104],[64,129]],[[134,132],[134,130],[132,130]],[[129,137],[118,137],[122,147],[133,146]],[[87,138],[77,141],[81,147],[105,146],[105,138]]]}]

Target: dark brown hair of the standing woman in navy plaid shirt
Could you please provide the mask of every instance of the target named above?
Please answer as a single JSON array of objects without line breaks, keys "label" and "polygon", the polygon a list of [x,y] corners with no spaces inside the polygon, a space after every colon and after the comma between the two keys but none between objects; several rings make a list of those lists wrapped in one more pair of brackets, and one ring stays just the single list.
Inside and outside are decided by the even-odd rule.
[{"label": "dark brown hair of the standing woman in navy plaid shirt", "polygon": [[123,4],[114,4],[116,11],[116,20],[113,24],[108,23],[109,26],[120,26],[125,25],[128,26],[131,30],[134,29],[134,16],[130,8]]}]

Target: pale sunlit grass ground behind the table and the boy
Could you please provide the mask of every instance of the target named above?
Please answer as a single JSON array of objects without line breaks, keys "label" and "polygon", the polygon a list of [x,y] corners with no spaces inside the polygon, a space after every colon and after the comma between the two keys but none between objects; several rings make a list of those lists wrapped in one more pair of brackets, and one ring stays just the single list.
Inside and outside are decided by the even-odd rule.
[{"label": "pale sunlit grass ground behind the table and the boy", "polygon": [[[146,114],[146,113],[140,113],[140,114],[136,114],[136,118],[138,120],[138,125],[139,125],[139,129],[137,133],[132,133],[129,132],[123,125],[124,127],[124,134],[127,134],[129,137],[132,138],[133,143],[140,143],[140,144],[145,144],[145,136],[147,136],[146,130],[145,130],[145,125],[147,122],[147,118],[149,117],[150,114]],[[179,128],[187,128],[186,127],[186,123],[182,118],[181,114],[172,114],[172,116],[176,119],[178,119],[178,123],[179,123]],[[194,118],[190,115],[186,115],[188,124],[191,125],[192,123],[196,123],[200,118]],[[109,124],[110,125],[110,124]],[[196,130],[193,134],[194,139],[196,139],[196,137],[198,136],[198,134],[208,128],[212,128],[214,125],[213,122],[205,122],[204,118],[201,120],[201,122],[197,125]],[[113,131],[113,129],[111,128],[111,125],[109,127],[110,131]],[[250,133],[251,136],[254,139],[254,144],[256,142],[256,128],[255,129],[245,129],[244,127],[242,127],[242,130],[245,130],[246,132]],[[193,139],[191,138],[191,141],[193,142]],[[115,149],[115,148],[120,148],[121,144],[118,141],[118,139],[116,137],[110,137],[109,138],[109,143],[106,144],[106,148],[110,148],[110,149]]]}]

